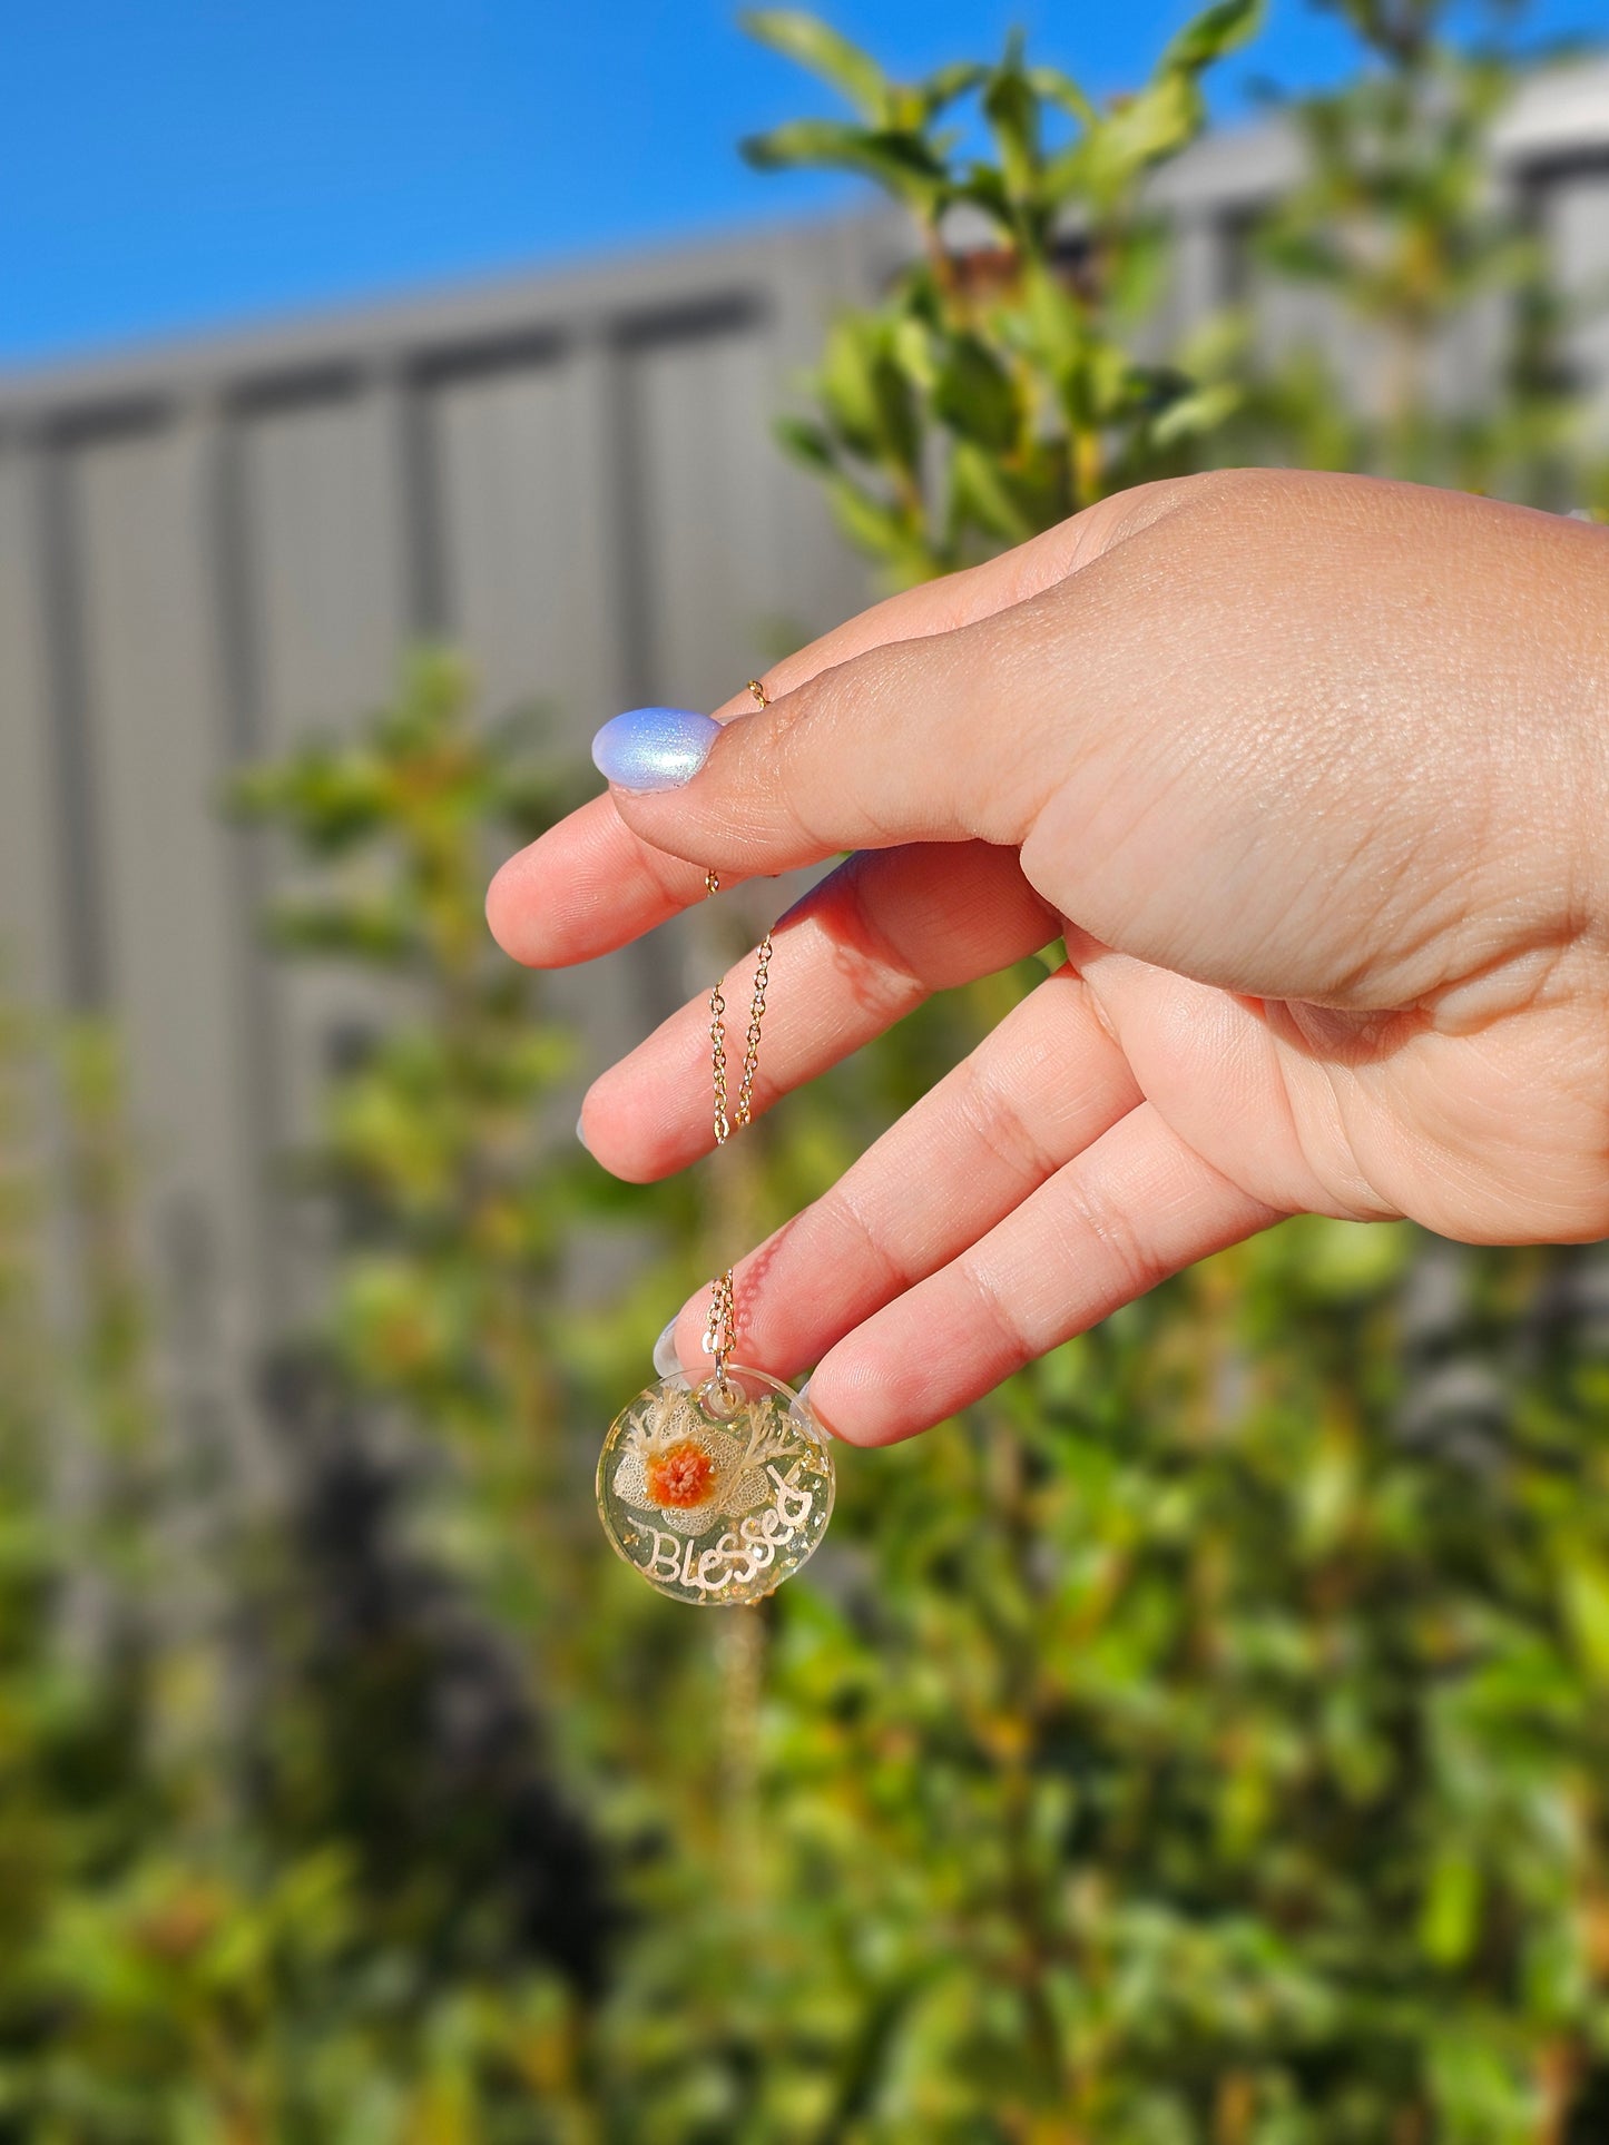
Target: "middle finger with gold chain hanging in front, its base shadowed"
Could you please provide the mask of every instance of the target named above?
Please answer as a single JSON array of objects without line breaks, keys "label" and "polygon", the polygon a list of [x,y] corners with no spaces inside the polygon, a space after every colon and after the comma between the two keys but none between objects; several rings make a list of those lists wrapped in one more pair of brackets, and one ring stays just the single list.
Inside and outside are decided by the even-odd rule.
[{"label": "middle finger with gold chain hanging in front, its base shadowed", "polygon": [[[1060,929],[1010,849],[963,843],[852,856],[774,933],[755,1115],[892,1027],[931,991],[1021,961]],[[725,980],[727,1008],[738,1015],[751,978],[753,961]],[[637,1184],[708,1154],[710,1120],[704,995],[594,1081],[581,1111],[592,1154]]]}]

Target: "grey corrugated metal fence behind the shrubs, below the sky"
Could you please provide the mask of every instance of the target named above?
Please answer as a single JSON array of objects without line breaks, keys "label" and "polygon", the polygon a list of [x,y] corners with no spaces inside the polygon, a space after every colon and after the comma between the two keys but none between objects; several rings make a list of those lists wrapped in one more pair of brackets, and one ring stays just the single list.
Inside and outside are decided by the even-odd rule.
[{"label": "grey corrugated metal fence behind the shrubs, below the sky", "polygon": [[[1259,129],[1165,176],[1169,330],[1246,287],[1246,210],[1289,172]],[[1566,281],[1609,270],[1609,66],[1532,88],[1495,180]],[[272,1158],[352,1015],[262,959],[281,864],[221,824],[230,770],[352,725],[416,635],[579,755],[616,708],[710,706],[854,609],[768,418],[901,247],[862,217],[0,378],[0,940],[13,991],[127,1036],[176,1399],[249,1424],[260,1345],[309,1308]],[[1268,341],[1322,324],[1251,296]],[[1609,322],[1577,354],[1609,438]],[[1446,363],[1457,393],[1478,343]],[[618,963],[599,1045],[676,995]]]}]

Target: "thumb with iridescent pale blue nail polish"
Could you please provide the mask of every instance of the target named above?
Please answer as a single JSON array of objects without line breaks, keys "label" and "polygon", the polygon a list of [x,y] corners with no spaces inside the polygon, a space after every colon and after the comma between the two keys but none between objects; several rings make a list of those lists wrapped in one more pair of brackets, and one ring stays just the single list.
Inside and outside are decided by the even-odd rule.
[{"label": "thumb with iridescent pale blue nail polish", "polygon": [[[1017,847],[1103,699],[1103,637],[1133,626],[1116,553],[1214,480],[1111,493],[987,566],[862,613],[781,665],[785,689],[766,708],[725,723],[684,708],[618,714],[592,757],[620,817],[654,849],[744,875],[907,841]],[[1000,603],[1004,590],[1021,598]],[[944,631],[880,631],[884,613],[897,626],[946,607],[961,616]],[[845,644],[843,661],[820,661]]]}]

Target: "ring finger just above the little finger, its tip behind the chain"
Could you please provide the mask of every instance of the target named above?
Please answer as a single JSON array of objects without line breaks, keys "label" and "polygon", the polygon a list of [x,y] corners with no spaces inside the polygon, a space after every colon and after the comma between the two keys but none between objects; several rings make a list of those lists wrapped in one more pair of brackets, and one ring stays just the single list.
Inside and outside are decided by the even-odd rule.
[{"label": "ring finger just above the little finger, its tip behind the chain", "polygon": [[[1139,1103],[1083,978],[1060,970],[736,1270],[744,1362],[796,1373],[959,1257]],[[708,1291],[676,1321],[699,1362]],[[854,1431],[847,1431],[854,1435]]]}]

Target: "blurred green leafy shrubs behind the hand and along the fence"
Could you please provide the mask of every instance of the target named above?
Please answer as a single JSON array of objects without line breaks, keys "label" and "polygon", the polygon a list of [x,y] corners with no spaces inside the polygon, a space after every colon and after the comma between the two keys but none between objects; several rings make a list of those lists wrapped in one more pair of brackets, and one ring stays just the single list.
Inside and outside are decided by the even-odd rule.
[{"label": "blurred green leafy shrubs behind the hand and along the fence", "polygon": [[[1156,347],[1146,178],[1255,34],[1096,109],[1019,43],[753,142],[901,199],[789,453],[892,581],[1234,461],[1596,500],[1566,307],[1487,184],[1519,77],[1341,0],[1270,272],[1364,330]],[[1508,11],[1517,21],[1523,11]],[[1470,309],[1508,324],[1467,408]],[[287,961],[386,982],[290,1195],[326,1315],[242,1502],[167,1422],[116,1038],[0,1025],[0,2139],[180,2145],[1598,2145],[1609,2139],[1609,1278],[1298,1221],[905,1448],[809,1574],[695,1615],[609,1555],[596,1437],[732,1188],[609,1186],[573,1045],[487,942],[569,802],[418,652],[356,744],[238,789],[305,856]],[[738,948],[729,948],[736,952]],[[742,1141],[813,1197],[1040,970],[953,993]],[[64,1326],[60,1186],[88,1274]],[[579,1287],[575,1246],[616,1285]]]}]

